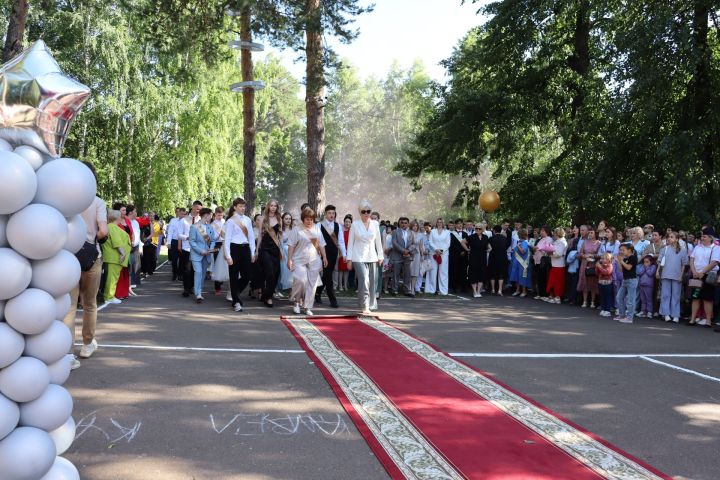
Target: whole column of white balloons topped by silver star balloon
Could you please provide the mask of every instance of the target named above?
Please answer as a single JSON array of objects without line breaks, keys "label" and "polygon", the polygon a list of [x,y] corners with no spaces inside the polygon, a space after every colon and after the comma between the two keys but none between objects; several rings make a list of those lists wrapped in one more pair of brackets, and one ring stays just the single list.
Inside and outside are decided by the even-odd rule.
[{"label": "whole column of white balloons topped by silver star balloon", "polygon": [[89,95],[42,41],[0,69],[0,478],[79,479],[59,457],[75,437],[72,335],[62,319],[80,279],[85,165],[56,158]]}]

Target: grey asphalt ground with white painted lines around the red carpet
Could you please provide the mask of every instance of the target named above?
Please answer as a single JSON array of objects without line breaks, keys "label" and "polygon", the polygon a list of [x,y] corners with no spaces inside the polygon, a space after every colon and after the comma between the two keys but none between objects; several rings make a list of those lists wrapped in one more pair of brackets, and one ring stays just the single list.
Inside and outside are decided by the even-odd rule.
[{"label": "grey asphalt ground with white painted lines around the red carpet", "polygon": [[[83,479],[388,478],[280,321],[289,303],[238,314],[224,295],[197,305],[181,290],[165,265],[99,312],[101,347],[67,384],[66,456]],[[358,313],[354,299],[340,307],[314,312]],[[710,329],[488,296],[388,297],[378,314],[674,478],[720,478]]]}]

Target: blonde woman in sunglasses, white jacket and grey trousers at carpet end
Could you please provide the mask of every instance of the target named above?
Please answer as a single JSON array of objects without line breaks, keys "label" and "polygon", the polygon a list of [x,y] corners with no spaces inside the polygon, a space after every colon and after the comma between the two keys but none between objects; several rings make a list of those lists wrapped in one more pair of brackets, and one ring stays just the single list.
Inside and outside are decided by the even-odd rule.
[{"label": "blonde woman in sunglasses, white jacket and grey trousers at carpet end", "polygon": [[377,310],[376,286],[379,272],[378,265],[383,264],[383,241],[380,226],[370,219],[372,205],[367,200],[360,202],[360,220],[355,220],[348,235],[347,258],[352,261],[351,269],[355,270],[358,285],[358,302],[363,315]]}]

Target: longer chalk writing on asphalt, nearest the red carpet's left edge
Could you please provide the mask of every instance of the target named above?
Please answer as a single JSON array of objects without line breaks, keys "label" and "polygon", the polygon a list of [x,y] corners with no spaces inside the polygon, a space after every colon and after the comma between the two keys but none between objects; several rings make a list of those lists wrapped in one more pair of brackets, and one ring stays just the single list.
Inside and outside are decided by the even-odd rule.
[{"label": "longer chalk writing on asphalt, nearest the red carpet's left edge", "polygon": [[238,413],[222,417],[210,415],[210,425],[219,435],[300,435],[320,434],[335,436],[347,433],[347,423],[342,415],[313,414],[267,414]]}]

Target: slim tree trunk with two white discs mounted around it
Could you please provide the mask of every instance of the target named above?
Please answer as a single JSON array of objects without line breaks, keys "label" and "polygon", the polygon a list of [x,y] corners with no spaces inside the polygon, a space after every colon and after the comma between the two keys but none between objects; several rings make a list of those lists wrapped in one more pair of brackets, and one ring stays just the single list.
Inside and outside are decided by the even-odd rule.
[{"label": "slim tree trunk with two white discs mounted around it", "polygon": [[[252,42],[250,31],[250,7],[243,7],[240,12],[240,40]],[[251,82],[253,78],[252,52],[244,48],[240,51],[240,64],[243,82]],[[247,212],[252,215],[255,209],[255,89],[243,90],[243,174],[244,195]]]}]

